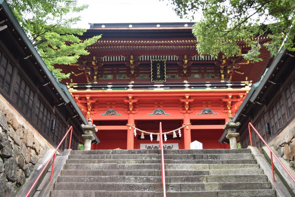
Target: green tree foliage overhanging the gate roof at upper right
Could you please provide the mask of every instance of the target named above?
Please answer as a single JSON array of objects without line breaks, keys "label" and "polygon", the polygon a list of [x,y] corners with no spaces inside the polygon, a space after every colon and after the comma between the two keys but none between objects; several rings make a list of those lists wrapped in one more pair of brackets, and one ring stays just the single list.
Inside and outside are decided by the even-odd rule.
[{"label": "green tree foliage overhanging the gate roof at upper right", "polygon": [[[217,57],[219,52],[227,58],[239,54],[237,40],[245,40],[250,50],[242,56],[251,62],[261,61],[258,56],[265,45],[274,57],[288,36],[285,47],[295,51],[295,1],[294,0],[170,0],[176,14],[194,20],[193,34],[201,55]],[[269,43],[259,38],[268,35]]]}]

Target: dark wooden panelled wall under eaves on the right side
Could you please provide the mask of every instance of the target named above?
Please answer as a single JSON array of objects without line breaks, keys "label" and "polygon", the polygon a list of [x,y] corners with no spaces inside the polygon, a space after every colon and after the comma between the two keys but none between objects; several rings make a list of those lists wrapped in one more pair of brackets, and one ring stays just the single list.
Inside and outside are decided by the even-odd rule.
[{"label": "dark wooden panelled wall under eaves on the right side", "polygon": [[[283,83],[278,83],[273,91],[269,92],[265,104],[258,105],[250,112],[251,118],[248,121],[266,141],[276,137],[295,118],[295,71],[293,67],[290,65],[282,73],[287,78],[281,79]],[[271,134],[266,133],[265,123],[270,123]],[[250,145],[248,122],[243,123],[240,133],[242,133],[240,136],[241,146],[247,148]],[[254,131],[251,132],[251,135],[253,146],[261,148],[263,142]]]}]

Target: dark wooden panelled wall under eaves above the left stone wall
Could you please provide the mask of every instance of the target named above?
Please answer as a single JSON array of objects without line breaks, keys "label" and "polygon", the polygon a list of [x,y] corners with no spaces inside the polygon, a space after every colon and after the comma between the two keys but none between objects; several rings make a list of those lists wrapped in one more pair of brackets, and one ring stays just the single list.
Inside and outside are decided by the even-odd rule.
[{"label": "dark wooden panelled wall under eaves above the left stone wall", "polygon": [[[0,42],[0,93],[28,122],[53,146],[57,146],[70,125],[69,112],[65,105],[55,106],[47,87],[38,84],[27,63],[22,66]],[[29,69],[29,70],[28,70]],[[56,120],[55,130],[50,130],[51,120]],[[69,136],[60,146],[68,148]],[[72,149],[78,149],[79,129],[73,130]]]}]

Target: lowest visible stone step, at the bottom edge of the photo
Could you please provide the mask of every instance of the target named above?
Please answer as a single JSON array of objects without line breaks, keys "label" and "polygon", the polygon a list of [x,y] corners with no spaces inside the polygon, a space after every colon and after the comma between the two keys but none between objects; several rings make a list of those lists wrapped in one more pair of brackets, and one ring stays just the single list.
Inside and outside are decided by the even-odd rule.
[{"label": "lowest visible stone step, at the bottom edge of the photo", "polygon": [[[234,193],[233,193],[234,192]],[[141,191],[136,192],[137,196],[141,197],[162,197],[162,192],[149,192]],[[166,192],[169,197],[276,197],[276,191],[272,189],[266,190],[247,190],[247,191],[194,191],[194,192]],[[122,196],[134,196],[133,191],[51,191],[51,197],[60,196],[71,196],[71,197],[96,197],[96,196],[107,196],[107,197],[122,197]]]}]

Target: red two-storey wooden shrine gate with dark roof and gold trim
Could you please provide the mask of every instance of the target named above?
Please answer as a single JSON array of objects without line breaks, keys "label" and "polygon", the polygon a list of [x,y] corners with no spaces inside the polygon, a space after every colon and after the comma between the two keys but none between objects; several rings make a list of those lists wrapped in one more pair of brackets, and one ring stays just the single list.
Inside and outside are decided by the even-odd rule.
[{"label": "red two-storey wooden shrine gate with dark roof and gold trim", "polygon": [[[76,64],[56,66],[72,72],[64,79],[86,118],[96,125],[100,143],[91,149],[157,149],[157,136],[140,132],[181,129],[181,137],[167,135],[167,149],[190,149],[199,141],[204,149],[227,149],[218,139],[222,126],[233,117],[271,63],[266,48],[255,64],[242,56],[200,56],[193,23],[90,24],[81,37],[102,35],[89,46],[89,55]],[[261,42],[270,39],[262,37]],[[249,47],[237,41],[240,54]]]}]

